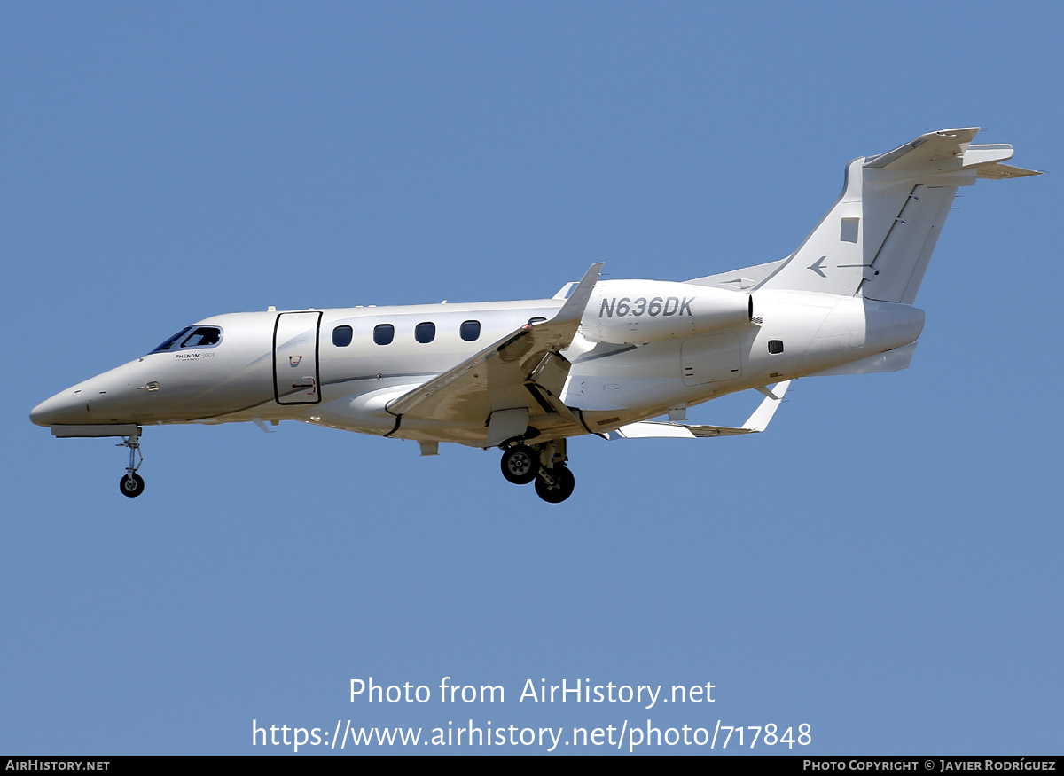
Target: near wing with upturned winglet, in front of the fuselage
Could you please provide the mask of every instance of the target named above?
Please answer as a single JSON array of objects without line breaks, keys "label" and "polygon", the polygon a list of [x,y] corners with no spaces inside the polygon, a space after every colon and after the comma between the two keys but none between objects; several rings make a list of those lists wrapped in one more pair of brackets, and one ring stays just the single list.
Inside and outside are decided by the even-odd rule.
[{"label": "near wing with upturned winglet, in front of the fuselage", "polygon": [[601,262],[593,264],[550,320],[526,324],[390,401],[387,411],[459,425],[483,423],[488,447],[523,436],[529,419],[539,415],[556,413],[576,423],[559,398],[571,366],[559,351],[572,342],[601,271]]}]

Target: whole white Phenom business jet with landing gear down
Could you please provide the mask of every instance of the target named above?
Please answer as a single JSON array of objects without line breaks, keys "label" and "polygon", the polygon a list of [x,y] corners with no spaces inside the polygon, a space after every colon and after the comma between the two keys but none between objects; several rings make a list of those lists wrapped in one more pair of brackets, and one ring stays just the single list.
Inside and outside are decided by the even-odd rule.
[{"label": "whole white Phenom business jet with landing gear down", "polygon": [[[909,366],[913,307],[958,186],[1037,175],[1012,146],[943,130],[846,167],[843,194],[789,257],[685,282],[599,280],[594,264],[550,299],[230,313],[63,391],[30,413],[55,436],[281,420],[502,449],[511,482],[560,502],[575,480],[566,441],[695,439],[763,431],[791,380]],[[746,390],[742,427],[689,425],[686,409]],[[652,420],[655,417],[667,420]]]}]

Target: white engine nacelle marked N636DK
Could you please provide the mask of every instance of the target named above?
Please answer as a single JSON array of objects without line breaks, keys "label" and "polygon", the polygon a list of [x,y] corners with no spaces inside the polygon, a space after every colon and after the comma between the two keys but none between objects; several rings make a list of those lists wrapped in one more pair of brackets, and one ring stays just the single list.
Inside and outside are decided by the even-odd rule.
[{"label": "white engine nacelle marked N636DK", "polygon": [[741,291],[664,280],[604,280],[584,310],[592,342],[642,345],[750,323],[753,299]]}]

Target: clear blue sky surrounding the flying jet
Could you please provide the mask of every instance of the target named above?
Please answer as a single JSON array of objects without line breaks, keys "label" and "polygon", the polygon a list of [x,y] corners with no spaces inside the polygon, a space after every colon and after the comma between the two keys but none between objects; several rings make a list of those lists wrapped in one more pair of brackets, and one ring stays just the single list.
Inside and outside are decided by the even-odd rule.
[{"label": "clear blue sky surrounding the flying jet", "polygon": [[[5,4],[0,750],[650,719],[808,723],[811,754],[1059,753],[1062,23],[1049,3]],[[28,418],[216,313],[771,261],[848,160],[967,126],[1050,175],[962,191],[912,368],[800,380],[748,439],[577,440],[558,507],[496,452],[298,424],[150,429],[126,499],[122,450]],[[506,700],[351,704],[370,676]],[[542,678],[716,701],[518,703]]]}]

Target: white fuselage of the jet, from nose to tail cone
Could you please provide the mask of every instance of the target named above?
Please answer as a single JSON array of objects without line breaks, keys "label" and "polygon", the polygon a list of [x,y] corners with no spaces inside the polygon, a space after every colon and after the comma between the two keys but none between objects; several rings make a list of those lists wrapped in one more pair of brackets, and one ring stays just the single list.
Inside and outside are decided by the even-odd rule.
[{"label": "white fuselage of the jet, from nose to tail cone", "polygon": [[[680,292],[669,297],[671,288]],[[561,399],[573,412],[530,420],[543,439],[605,432],[670,408],[839,367],[915,342],[924,326],[922,311],[910,304],[860,296],[763,290],[753,295],[751,319],[739,307],[749,297],[737,292],[634,280],[602,281],[595,291],[579,333],[562,351],[571,368]],[[56,394],[31,417],[41,426],[294,419],[483,446],[486,418],[399,423],[388,402],[529,321],[550,319],[563,303],[218,315],[187,330],[217,330],[217,342],[183,347],[178,341]],[[669,309],[676,323],[665,317]],[[386,339],[375,333],[382,326],[392,327],[385,344],[375,341]]]}]

